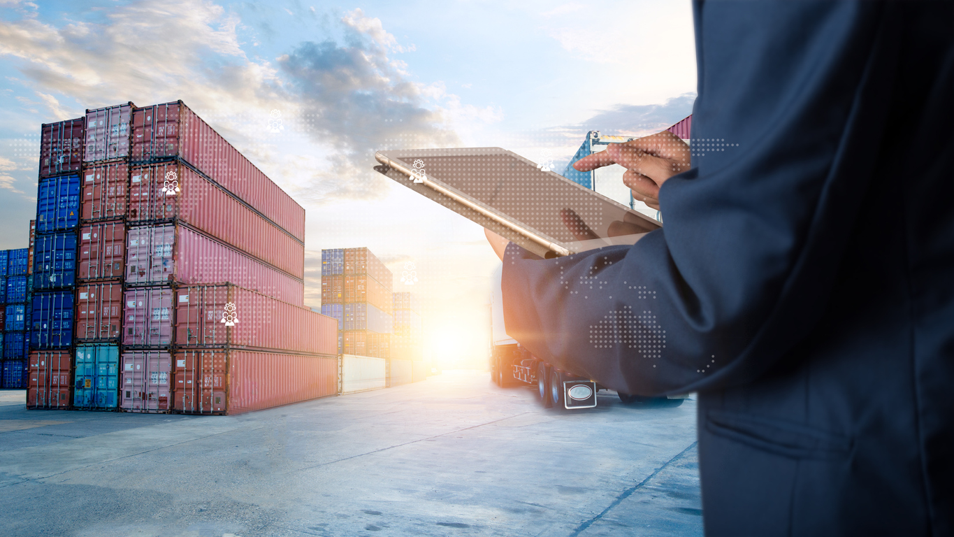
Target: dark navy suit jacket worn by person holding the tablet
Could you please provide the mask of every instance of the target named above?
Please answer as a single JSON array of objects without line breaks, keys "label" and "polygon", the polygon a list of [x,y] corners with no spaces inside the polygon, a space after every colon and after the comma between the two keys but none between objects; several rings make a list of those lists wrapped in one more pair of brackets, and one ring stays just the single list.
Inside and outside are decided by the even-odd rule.
[{"label": "dark navy suit jacket worn by person holding the tablet", "polygon": [[508,332],[619,391],[698,392],[709,535],[952,535],[954,3],[694,9],[664,229],[510,244]]}]

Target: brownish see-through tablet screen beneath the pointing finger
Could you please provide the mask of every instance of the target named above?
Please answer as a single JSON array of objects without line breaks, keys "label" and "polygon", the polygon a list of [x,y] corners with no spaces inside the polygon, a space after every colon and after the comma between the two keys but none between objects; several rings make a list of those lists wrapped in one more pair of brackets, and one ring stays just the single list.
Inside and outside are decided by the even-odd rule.
[{"label": "brownish see-through tablet screen beneath the pointing finger", "polygon": [[661,227],[653,218],[555,172],[541,171],[536,163],[501,148],[398,150],[381,155],[419,179],[466,196],[571,252],[633,244]]}]

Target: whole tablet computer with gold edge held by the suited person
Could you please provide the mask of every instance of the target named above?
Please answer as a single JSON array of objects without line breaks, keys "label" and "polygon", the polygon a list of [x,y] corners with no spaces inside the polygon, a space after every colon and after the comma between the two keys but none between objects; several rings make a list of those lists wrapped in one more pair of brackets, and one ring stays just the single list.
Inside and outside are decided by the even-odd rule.
[{"label": "whole tablet computer with gold edge held by the suited person", "polygon": [[634,244],[662,223],[499,147],[380,151],[375,170],[542,258]]}]

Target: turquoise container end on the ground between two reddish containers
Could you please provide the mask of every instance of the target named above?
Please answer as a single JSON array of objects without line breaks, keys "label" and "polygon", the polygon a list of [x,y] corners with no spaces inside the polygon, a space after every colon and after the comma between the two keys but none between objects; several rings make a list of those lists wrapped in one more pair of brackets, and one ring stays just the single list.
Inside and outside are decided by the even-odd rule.
[{"label": "turquoise container end on the ground between two reddish containers", "polygon": [[115,408],[119,386],[119,345],[76,346],[73,406]]}]

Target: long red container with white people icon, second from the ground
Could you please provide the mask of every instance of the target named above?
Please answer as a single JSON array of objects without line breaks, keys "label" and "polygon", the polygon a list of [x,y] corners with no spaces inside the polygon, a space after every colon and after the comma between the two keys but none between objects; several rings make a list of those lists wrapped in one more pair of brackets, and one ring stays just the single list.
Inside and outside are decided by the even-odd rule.
[{"label": "long red container with white people icon, second from the ground", "polygon": [[228,283],[176,290],[176,345],[334,356],[338,320]]}]

